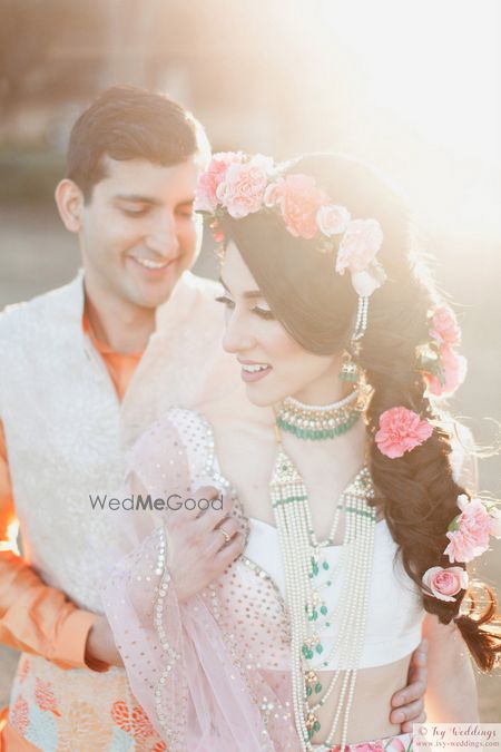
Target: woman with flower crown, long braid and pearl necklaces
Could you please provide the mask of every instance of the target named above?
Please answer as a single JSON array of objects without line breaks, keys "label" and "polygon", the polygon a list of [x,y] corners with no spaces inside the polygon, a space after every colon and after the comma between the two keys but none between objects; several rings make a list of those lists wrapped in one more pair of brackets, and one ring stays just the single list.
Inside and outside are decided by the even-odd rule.
[{"label": "woman with flower crown, long braid and pearl necklaces", "polygon": [[[131,452],[135,491],[232,499],[223,521],[210,497],[158,515],[107,585],[135,693],[173,750],[402,750],[387,707],[424,628],[433,720],[475,721],[463,647],[492,667],[494,600],[481,619],[460,605],[499,512],[472,499],[436,403],[461,380],[459,330],[405,208],[346,157],[242,154],[214,157],[198,206],[224,243],[223,344],[248,406],[173,410]],[[233,553],[198,594],[188,521]]]}]

